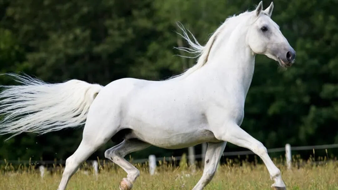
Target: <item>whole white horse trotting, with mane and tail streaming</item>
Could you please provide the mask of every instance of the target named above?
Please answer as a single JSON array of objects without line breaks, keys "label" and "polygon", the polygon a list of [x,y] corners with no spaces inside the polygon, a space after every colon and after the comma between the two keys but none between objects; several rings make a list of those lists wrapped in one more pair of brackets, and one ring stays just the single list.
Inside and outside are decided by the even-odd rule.
[{"label": "whole white horse trotting, with mane and tail streaming", "polygon": [[265,163],[275,189],[285,189],[280,170],[261,142],[240,125],[244,102],[254,73],[255,55],[264,54],[291,66],[295,51],[271,20],[273,3],[263,10],[241,13],[225,20],[206,46],[183,37],[198,53],[197,64],[165,81],[124,78],[106,86],[70,80],[48,84],[27,76],[16,79],[21,86],[3,86],[0,133],[61,130],[84,123],[82,141],[66,160],[58,189],[64,190],[71,176],[93,152],[109,139],[123,142],[108,149],[105,157],[127,172],[119,184],[130,190],[140,172],[124,156],[150,145],[184,148],[208,142],[201,179],[193,190],[203,189],[212,179],[226,142],[250,149]]}]

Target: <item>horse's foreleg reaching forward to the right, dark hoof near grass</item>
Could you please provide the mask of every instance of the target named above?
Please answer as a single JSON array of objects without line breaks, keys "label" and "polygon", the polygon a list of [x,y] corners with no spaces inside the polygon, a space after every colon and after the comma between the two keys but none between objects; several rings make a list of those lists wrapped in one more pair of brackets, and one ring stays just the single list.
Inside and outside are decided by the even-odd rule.
[{"label": "horse's foreleg reaching forward to the right, dark hoof near grass", "polygon": [[281,171],[274,165],[264,145],[254,137],[246,133],[236,124],[226,124],[221,128],[215,129],[215,137],[219,140],[233,143],[237,146],[245,147],[258,155],[267,167],[271,179],[274,183],[272,187],[276,190],[286,189],[282,180]]}]

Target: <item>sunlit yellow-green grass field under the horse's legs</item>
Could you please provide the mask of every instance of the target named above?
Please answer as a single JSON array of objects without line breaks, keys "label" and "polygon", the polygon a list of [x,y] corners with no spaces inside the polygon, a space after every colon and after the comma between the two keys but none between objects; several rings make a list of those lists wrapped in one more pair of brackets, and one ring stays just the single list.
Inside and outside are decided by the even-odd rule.
[{"label": "sunlit yellow-green grass field under the horse's legs", "polygon": [[[170,164],[162,164],[155,175],[148,174],[146,166],[137,165],[141,175],[134,184],[133,190],[191,190],[201,177],[202,171],[191,168],[179,168]],[[284,165],[278,165],[282,177],[289,190],[338,190],[338,163],[314,165],[305,162],[301,166],[293,166],[287,170]],[[84,165],[82,168],[86,168]],[[87,168],[90,168],[87,166]],[[61,169],[46,172],[41,179],[40,173],[34,166],[16,169],[7,164],[2,166],[1,190],[56,190],[61,180]],[[69,190],[118,190],[119,181],[126,177],[126,173],[113,164],[100,166],[100,173],[96,178],[91,169],[80,169],[70,180]],[[269,178],[267,169],[262,164],[221,165],[206,190],[265,190],[271,189],[273,182]]]}]

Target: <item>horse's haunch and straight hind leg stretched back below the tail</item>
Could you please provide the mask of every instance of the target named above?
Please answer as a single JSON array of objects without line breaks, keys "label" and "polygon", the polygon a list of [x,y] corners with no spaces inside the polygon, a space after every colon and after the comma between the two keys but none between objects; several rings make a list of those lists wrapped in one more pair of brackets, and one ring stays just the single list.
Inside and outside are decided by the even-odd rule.
[{"label": "horse's haunch and straight hind leg stretched back below the tail", "polygon": [[82,141],[74,154],[66,160],[66,167],[58,190],[65,190],[69,179],[80,164],[120,130],[119,102],[112,100],[104,89],[98,94],[89,109]]}]

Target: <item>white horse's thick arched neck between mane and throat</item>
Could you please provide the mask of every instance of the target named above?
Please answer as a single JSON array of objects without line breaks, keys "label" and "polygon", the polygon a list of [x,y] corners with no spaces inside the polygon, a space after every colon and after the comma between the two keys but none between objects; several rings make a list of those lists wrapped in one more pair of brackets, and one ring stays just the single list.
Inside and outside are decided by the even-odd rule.
[{"label": "white horse's thick arched neck between mane and throat", "polygon": [[[242,92],[244,98],[254,74],[255,55],[246,44],[247,27],[243,23],[228,36],[219,36],[220,42],[209,57],[209,77],[217,77],[223,87]],[[224,43],[222,43],[222,41]]]}]

